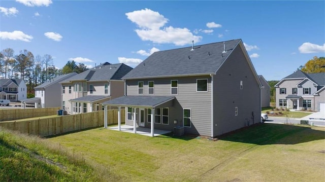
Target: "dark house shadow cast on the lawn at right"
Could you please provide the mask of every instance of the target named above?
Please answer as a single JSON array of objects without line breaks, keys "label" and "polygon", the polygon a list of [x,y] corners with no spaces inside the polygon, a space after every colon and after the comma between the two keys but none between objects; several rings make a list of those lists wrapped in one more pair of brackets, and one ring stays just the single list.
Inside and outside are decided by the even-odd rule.
[{"label": "dark house shadow cast on the lawn at right", "polygon": [[310,126],[264,123],[220,136],[219,139],[258,145],[297,144],[325,139],[325,131],[314,130]]}]

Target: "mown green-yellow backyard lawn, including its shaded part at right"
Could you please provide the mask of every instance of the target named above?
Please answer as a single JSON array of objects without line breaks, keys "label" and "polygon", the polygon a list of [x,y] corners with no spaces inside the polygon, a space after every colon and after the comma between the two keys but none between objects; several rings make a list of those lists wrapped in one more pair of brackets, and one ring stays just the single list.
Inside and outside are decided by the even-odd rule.
[{"label": "mown green-yellow backyard lawn, including its shaded part at right", "polygon": [[261,124],[217,141],[91,129],[48,138],[118,181],[324,181],[323,127]]}]

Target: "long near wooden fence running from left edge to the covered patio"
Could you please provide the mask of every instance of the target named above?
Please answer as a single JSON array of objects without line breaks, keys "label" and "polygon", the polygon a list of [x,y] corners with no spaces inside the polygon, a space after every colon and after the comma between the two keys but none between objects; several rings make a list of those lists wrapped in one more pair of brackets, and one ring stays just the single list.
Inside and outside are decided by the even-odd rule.
[{"label": "long near wooden fence running from left edge to the covered patio", "polygon": [[[109,125],[117,124],[117,110],[109,110],[107,115]],[[121,122],[125,122],[125,110],[121,110]],[[104,111],[26,121],[0,122],[0,127],[40,136],[63,134],[99,126],[104,126]]]}]

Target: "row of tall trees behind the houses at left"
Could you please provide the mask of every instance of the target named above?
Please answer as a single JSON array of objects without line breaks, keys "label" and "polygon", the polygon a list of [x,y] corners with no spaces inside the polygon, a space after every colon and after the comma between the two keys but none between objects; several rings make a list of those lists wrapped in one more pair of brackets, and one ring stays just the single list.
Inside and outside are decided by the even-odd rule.
[{"label": "row of tall trees behind the houses at left", "polygon": [[22,79],[27,85],[27,92],[34,92],[34,87],[43,84],[55,77],[70,72],[80,73],[87,70],[82,63],[76,65],[75,61],[68,61],[62,68],[53,64],[53,58],[49,54],[34,56],[28,50],[21,50],[18,54],[12,48],[0,52],[0,78]]}]

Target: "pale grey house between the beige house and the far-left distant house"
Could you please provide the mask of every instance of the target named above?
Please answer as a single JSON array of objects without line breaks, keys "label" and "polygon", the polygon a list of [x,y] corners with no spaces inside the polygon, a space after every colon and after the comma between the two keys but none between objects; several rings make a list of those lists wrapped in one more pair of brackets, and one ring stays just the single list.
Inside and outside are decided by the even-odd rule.
[{"label": "pale grey house between the beige house and the far-left distant house", "polygon": [[72,72],[66,75],[60,75],[47,81],[37,87],[34,87],[35,97],[22,100],[22,106],[26,103],[35,103],[35,108],[39,107],[60,107],[61,106],[61,84],[60,82],[77,75]]}]

